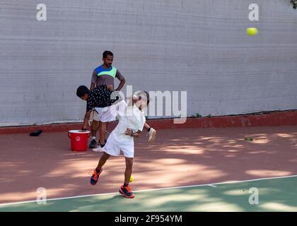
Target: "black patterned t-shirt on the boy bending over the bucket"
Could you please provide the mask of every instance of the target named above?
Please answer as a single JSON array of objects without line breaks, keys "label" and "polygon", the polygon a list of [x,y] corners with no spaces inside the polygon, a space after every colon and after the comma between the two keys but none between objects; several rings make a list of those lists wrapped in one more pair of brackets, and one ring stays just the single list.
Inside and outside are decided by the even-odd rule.
[{"label": "black patterned t-shirt on the boy bending over the bucket", "polygon": [[108,90],[107,85],[101,85],[94,88],[88,95],[86,111],[92,110],[94,107],[107,107],[117,100],[121,100],[120,95],[115,90]]}]

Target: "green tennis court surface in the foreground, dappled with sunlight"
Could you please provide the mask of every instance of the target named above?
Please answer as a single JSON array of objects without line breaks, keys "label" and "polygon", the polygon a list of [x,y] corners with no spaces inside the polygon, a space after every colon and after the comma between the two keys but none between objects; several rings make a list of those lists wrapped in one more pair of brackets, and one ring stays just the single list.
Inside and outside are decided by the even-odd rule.
[{"label": "green tennis court surface in the foreground, dappled with sunlight", "polygon": [[[18,203],[0,211],[297,211],[297,176]],[[258,189],[258,190],[255,190]],[[249,193],[250,191],[250,193]],[[258,204],[255,191],[259,191]],[[254,204],[250,204],[252,201]]]}]

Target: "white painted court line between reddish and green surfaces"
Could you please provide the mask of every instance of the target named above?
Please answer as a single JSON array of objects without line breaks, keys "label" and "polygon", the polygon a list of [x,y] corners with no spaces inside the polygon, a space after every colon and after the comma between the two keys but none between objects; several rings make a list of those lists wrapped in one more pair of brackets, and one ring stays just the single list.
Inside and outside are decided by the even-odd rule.
[{"label": "white painted court line between reddish and green surfaces", "polygon": [[[186,188],[192,188],[196,186],[216,186],[219,184],[238,184],[238,183],[244,183],[244,182],[256,182],[256,181],[262,181],[267,179],[282,179],[282,178],[290,178],[290,177],[297,177],[297,175],[290,175],[290,176],[283,176],[283,177],[264,177],[264,178],[258,178],[258,179],[247,179],[243,181],[233,181],[233,182],[220,182],[220,183],[213,183],[213,184],[197,184],[197,185],[188,185],[188,186],[173,186],[168,188],[161,188],[161,189],[146,189],[146,190],[140,190],[140,191],[133,191],[133,193],[140,193],[140,192],[146,192],[146,191],[162,191],[162,190],[170,190],[170,189],[186,189]],[[103,193],[103,194],[92,194],[92,195],[84,195],[84,196],[69,196],[69,197],[63,197],[63,198],[48,198],[46,201],[55,201],[55,200],[63,200],[63,199],[69,199],[69,198],[84,198],[84,197],[91,197],[91,196],[108,196],[108,195],[119,195],[119,193]],[[23,204],[23,203],[35,203],[36,200],[33,201],[22,201],[17,203],[3,203],[0,204],[1,206],[8,206],[8,205],[16,205],[16,204]]]}]

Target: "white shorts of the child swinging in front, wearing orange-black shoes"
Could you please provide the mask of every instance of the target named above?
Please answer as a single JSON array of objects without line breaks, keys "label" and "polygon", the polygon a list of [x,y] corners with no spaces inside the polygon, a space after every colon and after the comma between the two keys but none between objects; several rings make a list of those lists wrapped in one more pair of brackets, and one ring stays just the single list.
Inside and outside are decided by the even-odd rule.
[{"label": "white shorts of the child swinging in front, wearing orange-black shoes", "polygon": [[103,150],[108,155],[119,156],[122,150],[124,157],[134,157],[134,141],[117,141],[113,133],[110,133]]}]

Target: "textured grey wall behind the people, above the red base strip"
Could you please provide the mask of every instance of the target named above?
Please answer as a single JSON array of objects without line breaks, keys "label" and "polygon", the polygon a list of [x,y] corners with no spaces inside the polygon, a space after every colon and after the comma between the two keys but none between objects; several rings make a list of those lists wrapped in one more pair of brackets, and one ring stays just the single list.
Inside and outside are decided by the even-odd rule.
[{"label": "textured grey wall behind the people, above the red base strip", "polygon": [[1,0],[0,125],[81,120],[105,49],[134,90],[187,90],[188,115],[296,109],[296,40],[289,0]]}]

